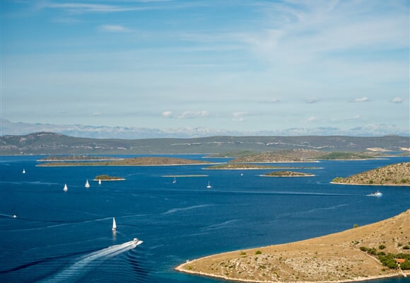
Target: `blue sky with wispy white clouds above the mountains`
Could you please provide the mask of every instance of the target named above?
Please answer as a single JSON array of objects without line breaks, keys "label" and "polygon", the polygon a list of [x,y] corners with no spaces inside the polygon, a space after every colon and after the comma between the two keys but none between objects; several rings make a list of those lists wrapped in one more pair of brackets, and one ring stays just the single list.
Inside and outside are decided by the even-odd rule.
[{"label": "blue sky with wispy white clouds above the mountains", "polygon": [[2,0],[1,118],[409,132],[407,0]]}]

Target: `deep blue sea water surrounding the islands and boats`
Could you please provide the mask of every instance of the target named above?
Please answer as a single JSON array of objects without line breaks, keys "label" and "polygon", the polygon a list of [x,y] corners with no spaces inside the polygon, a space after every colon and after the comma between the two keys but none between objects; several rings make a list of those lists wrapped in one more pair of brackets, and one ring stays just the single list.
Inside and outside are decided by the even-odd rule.
[{"label": "deep blue sea water surrounding the islands and boats", "polygon": [[[363,226],[410,207],[409,187],[329,183],[409,157],[282,164],[318,167],[300,170],[314,173],[311,178],[267,178],[260,176],[262,170],[204,166],[37,167],[37,158],[0,159],[0,282],[225,282],[173,268],[213,253]],[[126,180],[98,185],[93,178],[100,174]],[[164,175],[206,176],[172,183]],[[366,196],[377,189],[383,197]],[[134,248],[128,243],[133,238],[144,243]]]}]

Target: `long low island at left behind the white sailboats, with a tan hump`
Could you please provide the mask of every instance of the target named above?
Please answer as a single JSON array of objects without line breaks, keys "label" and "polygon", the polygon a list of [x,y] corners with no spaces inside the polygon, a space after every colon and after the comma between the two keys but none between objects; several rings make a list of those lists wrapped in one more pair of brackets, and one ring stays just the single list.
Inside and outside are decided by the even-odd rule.
[{"label": "long low island at left behind the white sailboats, with a tan hump", "polygon": [[197,165],[210,164],[207,161],[198,161],[185,158],[170,157],[134,157],[124,158],[119,161],[104,162],[48,162],[37,166],[171,166],[171,165]]}]

